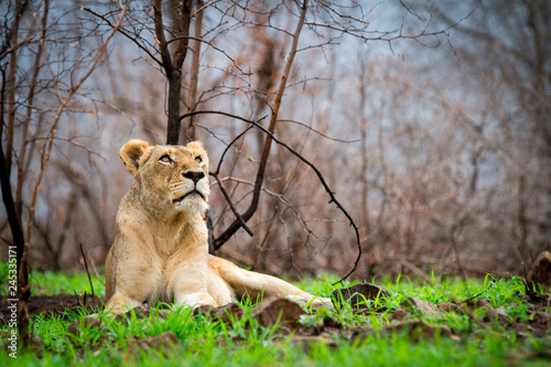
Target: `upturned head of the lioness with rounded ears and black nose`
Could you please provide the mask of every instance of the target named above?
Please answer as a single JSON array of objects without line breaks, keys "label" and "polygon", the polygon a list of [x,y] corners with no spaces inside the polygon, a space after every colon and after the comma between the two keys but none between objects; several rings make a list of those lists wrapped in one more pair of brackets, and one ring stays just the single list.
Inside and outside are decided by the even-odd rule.
[{"label": "upturned head of the lioness with rounded ears and black nose", "polygon": [[120,158],[139,185],[140,199],[164,213],[208,208],[208,156],[203,144],[153,145],[130,140]]}]

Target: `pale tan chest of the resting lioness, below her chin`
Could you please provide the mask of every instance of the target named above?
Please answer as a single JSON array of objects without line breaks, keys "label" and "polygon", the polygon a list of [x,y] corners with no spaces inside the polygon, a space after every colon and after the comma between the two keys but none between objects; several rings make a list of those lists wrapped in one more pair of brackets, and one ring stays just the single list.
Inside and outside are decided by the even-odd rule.
[{"label": "pale tan chest of the resting lioness, below her chin", "polygon": [[151,216],[118,219],[116,288],[142,302],[172,303],[176,291],[186,284],[207,283],[208,248],[206,230],[197,226],[204,226],[201,216],[180,224],[173,220],[173,225],[159,223],[159,218],[151,225]]}]

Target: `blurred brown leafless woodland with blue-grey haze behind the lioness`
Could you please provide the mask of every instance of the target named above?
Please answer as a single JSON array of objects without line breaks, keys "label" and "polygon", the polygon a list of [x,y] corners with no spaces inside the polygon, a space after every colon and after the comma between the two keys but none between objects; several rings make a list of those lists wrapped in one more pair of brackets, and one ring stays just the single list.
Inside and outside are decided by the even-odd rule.
[{"label": "blurred brown leafless woodland with blue-grey haze behind the lioness", "polygon": [[[83,270],[80,244],[95,269],[104,263],[132,184],[120,147],[166,141],[158,3],[132,1],[125,13],[123,1],[0,3],[4,260],[10,191],[33,269]],[[268,126],[292,62],[276,137],[315,164],[359,228],[354,278],[523,276],[551,247],[551,2],[311,0],[298,34],[303,6],[162,1],[169,51],[188,40],[181,112]],[[249,127],[190,120],[182,131],[193,123],[210,170]],[[220,166],[241,213],[264,138],[249,130]],[[210,182],[216,238],[234,214]],[[240,229],[217,255],[278,276],[343,276],[356,236],[329,199],[310,166],[273,145],[248,222],[255,236]]]}]

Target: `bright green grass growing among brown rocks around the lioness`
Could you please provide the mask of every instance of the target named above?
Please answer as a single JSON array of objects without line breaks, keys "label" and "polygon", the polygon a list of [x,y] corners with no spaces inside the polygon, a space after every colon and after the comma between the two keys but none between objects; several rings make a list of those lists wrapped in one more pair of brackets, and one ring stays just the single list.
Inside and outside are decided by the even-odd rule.
[{"label": "bright green grass growing among brown rocks around the lioness", "polygon": [[[104,292],[99,280],[94,280],[96,292]],[[32,277],[33,293],[56,294],[89,292],[86,274],[35,272]],[[295,282],[302,289],[328,296],[336,277]],[[35,353],[20,354],[18,366],[548,366],[543,353],[551,347],[551,335],[531,337],[517,335],[497,322],[484,320],[476,311],[471,316],[446,312],[425,315],[412,312],[407,320],[422,320],[430,325],[447,325],[453,337],[434,335],[418,338],[401,333],[379,333],[382,327],[396,324],[391,316],[396,307],[408,296],[433,303],[461,302],[478,295],[493,307],[505,309],[510,321],[531,317],[531,306],[519,299],[525,288],[519,278],[483,280],[446,279],[419,282],[408,278],[397,281],[376,279],[371,282],[387,288],[391,298],[369,302],[370,314],[355,313],[349,305],[336,312],[321,311],[303,316],[305,326],[323,325],[324,319],[338,321],[345,331],[366,330],[363,338],[352,338],[347,332],[327,333],[328,342],[295,342],[293,333],[278,326],[261,327],[251,316],[253,304],[244,301],[244,317],[226,324],[203,315],[193,315],[190,309],[153,309],[144,319],[104,319],[105,326],[84,325],[84,313],[67,311],[54,317],[32,317],[32,334],[42,339],[42,358]],[[347,283],[346,287],[353,283]],[[381,309],[382,307],[382,309]],[[377,310],[382,312],[375,313]],[[549,314],[549,310],[545,311]],[[162,313],[162,315],[160,315]],[[523,317],[523,319],[522,319]],[[82,322],[77,335],[67,332],[74,321]],[[7,330],[7,325],[2,326]],[[180,345],[175,347],[136,348],[137,341],[171,331]],[[0,365],[15,365],[6,352],[0,352]]]}]

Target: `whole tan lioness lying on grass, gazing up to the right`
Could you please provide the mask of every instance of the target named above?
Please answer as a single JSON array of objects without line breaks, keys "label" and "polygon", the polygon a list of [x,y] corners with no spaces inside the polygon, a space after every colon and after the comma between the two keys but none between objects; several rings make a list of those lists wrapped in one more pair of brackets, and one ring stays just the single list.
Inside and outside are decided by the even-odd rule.
[{"label": "whole tan lioness lying on grass, gazing up to the right", "polygon": [[208,255],[208,156],[201,142],[186,147],[130,140],[120,158],[136,182],[117,213],[106,262],[106,311],[143,302],[222,306],[233,298],[281,295],[314,307],[331,306],[274,277],[240,269]]}]

